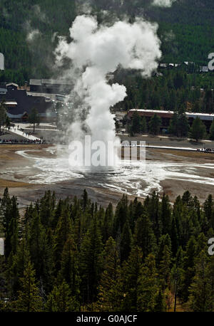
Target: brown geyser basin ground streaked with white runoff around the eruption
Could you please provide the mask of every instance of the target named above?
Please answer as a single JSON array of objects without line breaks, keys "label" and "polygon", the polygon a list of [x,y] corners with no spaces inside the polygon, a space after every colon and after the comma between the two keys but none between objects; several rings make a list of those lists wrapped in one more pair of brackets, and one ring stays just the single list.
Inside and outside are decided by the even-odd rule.
[{"label": "brown geyser basin ground streaked with white runoff around the eruption", "polygon": [[214,190],[214,154],[173,149],[146,149],[146,164],[125,161],[115,168],[91,172],[74,169],[65,147],[1,147],[0,191],[9,186],[21,206],[50,189],[58,197],[81,196],[83,189],[98,204],[116,204],[122,194],[143,200],[152,191],[174,201],[189,190],[201,203]]}]

